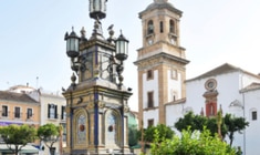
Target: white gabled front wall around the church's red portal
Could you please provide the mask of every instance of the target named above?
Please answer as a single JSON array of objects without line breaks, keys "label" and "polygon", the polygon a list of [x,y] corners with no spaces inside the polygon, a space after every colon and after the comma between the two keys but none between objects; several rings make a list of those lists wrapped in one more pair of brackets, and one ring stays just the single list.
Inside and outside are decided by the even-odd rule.
[{"label": "white gabled front wall around the church's red portal", "polygon": [[242,97],[239,94],[239,72],[230,72],[187,82],[187,100],[185,107],[191,106],[195,114],[200,114],[201,107],[204,107],[205,111],[205,97],[202,95],[207,91],[205,89],[205,83],[209,79],[215,79],[217,81],[216,90],[219,93],[217,96],[218,108],[221,104],[223,113],[228,111],[232,101],[238,100],[242,102]]}]

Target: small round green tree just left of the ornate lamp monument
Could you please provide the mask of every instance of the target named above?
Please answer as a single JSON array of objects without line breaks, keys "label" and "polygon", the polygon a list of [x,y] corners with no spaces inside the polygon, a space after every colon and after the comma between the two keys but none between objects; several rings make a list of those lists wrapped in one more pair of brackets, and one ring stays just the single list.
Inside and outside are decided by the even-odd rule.
[{"label": "small round green tree just left of the ornate lamp monument", "polygon": [[60,136],[60,126],[48,123],[38,128],[38,137],[48,146],[51,155],[54,155],[55,148],[53,144],[58,142]]}]

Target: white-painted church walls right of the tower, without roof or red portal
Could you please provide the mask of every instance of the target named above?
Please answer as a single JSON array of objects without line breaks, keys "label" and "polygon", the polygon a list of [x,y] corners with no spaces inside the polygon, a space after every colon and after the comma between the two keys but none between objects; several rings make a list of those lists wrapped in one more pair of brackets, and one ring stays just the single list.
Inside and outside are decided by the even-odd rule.
[{"label": "white-painted church walls right of the tower, without roof or red portal", "polygon": [[[243,132],[236,133],[232,146],[241,146],[242,149],[245,149],[246,146],[247,155],[258,155],[258,144],[260,143],[260,138],[258,138],[258,131],[260,130],[260,123],[258,121],[260,118],[260,90],[246,92],[243,94],[240,93],[240,90],[252,82],[260,83],[260,80],[241,71],[188,81],[186,83],[186,103],[184,105],[175,104],[166,106],[167,125],[173,126],[173,122],[183,115],[181,110],[189,108],[193,110],[195,114],[200,114],[201,107],[204,107],[205,112],[205,97],[202,95],[207,91],[205,89],[205,82],[209,79],[217,81],[216,90],[219,93],[217,97],[218,110],[221,104],[223,115],[230,113],[236,116],[245,116],[246,120],[250,122],[249,127],[246,130],[246,135]],[[230,106],[232,102],[237,102],[241,106]],[[242,108],[243,105],[245,108]],[[258,112],[257,121],[251,120],[252,108]],[[229,143],[228,138],[226,140],[227,143]]]}]

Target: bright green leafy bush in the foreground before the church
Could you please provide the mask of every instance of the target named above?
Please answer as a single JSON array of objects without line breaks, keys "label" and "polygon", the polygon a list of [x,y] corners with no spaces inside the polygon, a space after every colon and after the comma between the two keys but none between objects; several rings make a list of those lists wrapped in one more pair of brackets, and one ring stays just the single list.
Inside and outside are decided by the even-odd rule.
[{"label": "bright green leafy bush in the foreground before the church", "polygon": [[190,128],[175,135],[171,140],[159,142],[158,131],[155,131],[155,141],[152,143],[153,155],[236,155],[236,149],[222,142],[216,134],[211,136],[208,130],[191,132]]}]

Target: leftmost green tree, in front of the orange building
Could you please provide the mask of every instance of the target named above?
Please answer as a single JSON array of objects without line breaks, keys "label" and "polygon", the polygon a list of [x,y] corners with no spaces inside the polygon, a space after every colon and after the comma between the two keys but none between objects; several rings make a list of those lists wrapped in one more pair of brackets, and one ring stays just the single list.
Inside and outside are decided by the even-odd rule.
[{"label": "leftmost green tree, in front of the orange building", "polygon": [[[28,143],[34,142],[37,130],[29,125],[9,125],[0,127],[0,135],[8,148],[15,155]],[[14,146],[14,147],[13,147]]]}]

